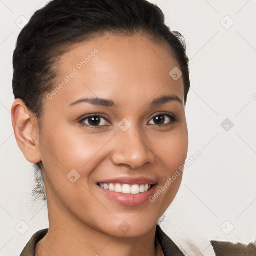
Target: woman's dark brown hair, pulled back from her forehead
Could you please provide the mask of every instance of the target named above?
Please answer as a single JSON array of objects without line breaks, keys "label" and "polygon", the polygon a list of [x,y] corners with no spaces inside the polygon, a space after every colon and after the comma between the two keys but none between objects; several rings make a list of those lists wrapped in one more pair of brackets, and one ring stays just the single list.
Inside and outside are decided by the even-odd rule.
[{"label": "woman's dark brown hair, pulled back from her forehead", "polygon": [[[37,10],[21,30],[13,54],[14,96],[24,101],[39,124],[43,96],[54,86],[59,56],[73,43],[104,32],[124,35],[142,32],[166,41],[182,71],[186,103],[190,87],[186,40],[165,25],[158,6],[146,0],[52,0]],[[36,165],[40,170],[39,163]],[[35,190],[38,193],[38,187]]]}]

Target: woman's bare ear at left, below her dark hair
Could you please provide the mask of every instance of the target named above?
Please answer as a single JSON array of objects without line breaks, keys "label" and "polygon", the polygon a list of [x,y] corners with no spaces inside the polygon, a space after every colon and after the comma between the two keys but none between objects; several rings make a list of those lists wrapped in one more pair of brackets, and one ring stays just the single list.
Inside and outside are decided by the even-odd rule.
[{"label": "woman's bare ear at left, below her dark hair", "polygon": [[37,118],[17,98],[11,107],[11,121],[15,138],[25,158],[31,163],[41,161],[39,152],[39,126]]}]

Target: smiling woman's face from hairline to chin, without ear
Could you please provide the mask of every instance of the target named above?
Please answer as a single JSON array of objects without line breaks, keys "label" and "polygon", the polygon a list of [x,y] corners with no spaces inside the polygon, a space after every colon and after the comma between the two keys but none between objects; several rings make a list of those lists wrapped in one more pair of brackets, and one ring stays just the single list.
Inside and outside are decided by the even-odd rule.
[{"label": "smiling woman's face from hairline to chin, without ear", "polygon": [[155,225],[187,156],[183,80],[173,68],[167,43],[138,34],[104,35],[61,56],[38,133],[50,222],[127,237]]}]

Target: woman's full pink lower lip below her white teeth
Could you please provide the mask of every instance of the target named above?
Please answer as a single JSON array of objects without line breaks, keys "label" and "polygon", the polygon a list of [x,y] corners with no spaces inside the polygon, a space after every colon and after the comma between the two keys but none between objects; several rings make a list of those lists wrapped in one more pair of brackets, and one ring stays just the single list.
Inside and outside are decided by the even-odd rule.
[{"label": "woman's full pink lower lip below her white teeth", "polygon": [[136,206],[149,201],[149,197],[154,193],[157,184],[151,185],[150,189],[138,194],[123,194],[121,192],[110,191],[108,189],[97,187],[111,200],[118,204],[126,206]]}]

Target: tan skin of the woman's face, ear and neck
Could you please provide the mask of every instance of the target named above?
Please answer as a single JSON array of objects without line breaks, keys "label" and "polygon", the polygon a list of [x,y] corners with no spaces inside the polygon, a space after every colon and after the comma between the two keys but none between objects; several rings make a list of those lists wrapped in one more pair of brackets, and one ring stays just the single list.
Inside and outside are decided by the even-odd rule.
[{"label": "tan skin of the woman's face, ear and neck", "polygon": [[[38,255],[156,255],[157,220],[168,208],[182,175],[157,198],[137,206],[118,204],[96,185],[114,177],[145,176],[160,189],[187,157],[188,134],[182,77],[172,79],[179,67],[166,42],[142,34],[103,35],[76,44],[57,65],[57,86],[84,56],[98,53],[52,99],[43,98],[41,129],[21,99],[12,105],[12,125],[25,158],[40,162],[47,195],[49,231],[36,246]],[[176,95],[158,106],[150,102],[162,95]],[[111,99],[118,107],[80,103],[81,97]],[[165,124],[155,124],[160,112]],[[101,114],[98,128],[79,122],[90,113]],[[117,125],[126,118],[131,126]],[[86,125],[87,124],[87,125]],[[107,125],[108,124],[108,125]],[[72,183],[67,174],[80,178]],[[118,226],[126,221],[127,233]],[[67,231],[68,230],[68,231]]]}]

